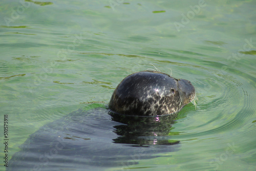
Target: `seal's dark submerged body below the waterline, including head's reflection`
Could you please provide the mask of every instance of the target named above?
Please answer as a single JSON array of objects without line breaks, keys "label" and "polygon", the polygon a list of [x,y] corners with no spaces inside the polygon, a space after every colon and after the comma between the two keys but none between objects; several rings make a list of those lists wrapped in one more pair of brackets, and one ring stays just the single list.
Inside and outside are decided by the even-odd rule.
[{"label": "seal's dark submerged body below the waterline, including head's reflection", "polygon": [[104,108],[77,110],[30,135],[7,170],[129,168],[178,150],[179,141],[166,138],[172,119],[122,116]]}]

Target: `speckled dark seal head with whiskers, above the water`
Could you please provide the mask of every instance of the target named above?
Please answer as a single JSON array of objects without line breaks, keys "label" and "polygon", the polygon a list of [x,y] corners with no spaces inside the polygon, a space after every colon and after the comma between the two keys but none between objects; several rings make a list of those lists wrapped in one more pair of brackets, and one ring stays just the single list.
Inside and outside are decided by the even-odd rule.
[{"label": "speckled dark seal head with whiskers, above the water", "polygon": [[159,71],[141,71],[118,84],[109,109],[121,115],[173,115],[190,101],[195,104],[195,98],[195,88],[190,81]]}]

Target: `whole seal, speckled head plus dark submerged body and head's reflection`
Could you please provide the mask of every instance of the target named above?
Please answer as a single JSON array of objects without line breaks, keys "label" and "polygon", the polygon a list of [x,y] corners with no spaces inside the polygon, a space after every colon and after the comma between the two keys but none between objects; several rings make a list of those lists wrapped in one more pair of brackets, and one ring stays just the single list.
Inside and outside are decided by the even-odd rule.
[{"label": "whole seal, speckled head plus dark submerged body and head's reflection", "polygon": [[121,169],[178,151],[179,141],[166,136],[172,116],[194,96],[187,80],[155,71],[129,75],[108,107],[77,110],[40,127],[12,156],[7,170]]}]

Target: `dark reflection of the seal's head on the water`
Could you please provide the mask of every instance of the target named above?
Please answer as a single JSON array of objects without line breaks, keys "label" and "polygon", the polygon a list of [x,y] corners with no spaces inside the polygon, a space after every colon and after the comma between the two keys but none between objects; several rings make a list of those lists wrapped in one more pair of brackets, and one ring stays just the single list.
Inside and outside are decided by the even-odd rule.
[{"label": "dark reflection of the seal's head on the water", "polygon": [[113,139],[115,143],[137,144],[137,145],[173,145],[179,141],[163,139],[168,136],[176,115],[138,117],[125,116],[109,112],[112,120],[124,123],[115,125],[114,132],[118,135]]}]

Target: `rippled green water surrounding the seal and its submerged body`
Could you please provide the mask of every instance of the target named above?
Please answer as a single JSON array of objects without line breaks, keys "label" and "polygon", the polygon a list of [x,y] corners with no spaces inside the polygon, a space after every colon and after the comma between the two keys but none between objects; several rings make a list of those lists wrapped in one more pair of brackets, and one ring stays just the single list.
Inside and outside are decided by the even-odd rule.
[{"label": "rippled green water surrounding the seal and its submerged body", "polygon": [[180,141],[179,151],[124,168],[255,170],[255,7],[253,0],[1,1],[0,135],[4,141],[8,115],[9,158],[40,126],[108,103],[125,76],[153,63],[193,83],[198,109],[185,106],[173,125],[169,139]]}]

